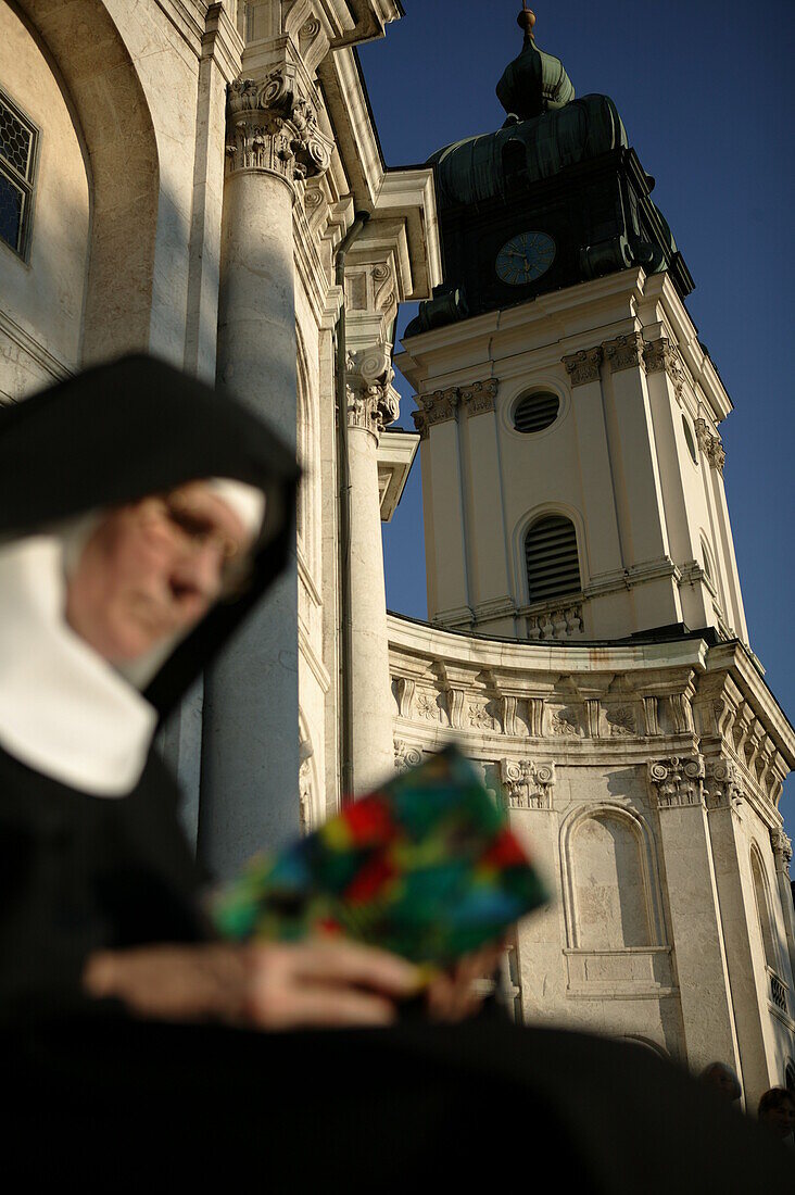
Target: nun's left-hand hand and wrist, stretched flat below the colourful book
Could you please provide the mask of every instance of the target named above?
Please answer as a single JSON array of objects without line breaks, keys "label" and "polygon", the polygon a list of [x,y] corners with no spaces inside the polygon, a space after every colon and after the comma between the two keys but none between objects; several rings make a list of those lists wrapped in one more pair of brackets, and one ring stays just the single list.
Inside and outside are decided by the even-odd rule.
[{"label": "nun's left-hand hand and wrist, stretched flat below the colourful book", "polygon": [[134,1016],[274,1030],[389,1025],[417,985],[411,963],[338,939],[103,951],[84,973],[88,995]]}]

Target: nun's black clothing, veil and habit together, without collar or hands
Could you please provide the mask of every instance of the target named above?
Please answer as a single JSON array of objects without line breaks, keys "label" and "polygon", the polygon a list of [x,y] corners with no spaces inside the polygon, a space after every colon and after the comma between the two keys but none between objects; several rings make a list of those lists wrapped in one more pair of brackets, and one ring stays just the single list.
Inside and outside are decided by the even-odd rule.
[{"label": "nun's black clothing, veil and habit together, without collar or hands", "polygon": [[[6,545],[204,478],[261,489],[265,520],[251,584],[151,681],[160,716],[280,571],[293,460],[232,399],[143,357],[0,415]],[[88,1001],[80,975],[94,950],[207,937],[177,802],[153,750],[129,795],[98,799],[0,747],[6,1160],[35,1136],[26,1187],[65,1172],[98,1190],[228,1187],[255,1168],[258,1185],[295,1195],[459,1184],[476,1171],[497,1187],[625,1195],[784,1189],[787,1151],[641,1047],[499,1017],[256,1034],[136,1022]]]}]

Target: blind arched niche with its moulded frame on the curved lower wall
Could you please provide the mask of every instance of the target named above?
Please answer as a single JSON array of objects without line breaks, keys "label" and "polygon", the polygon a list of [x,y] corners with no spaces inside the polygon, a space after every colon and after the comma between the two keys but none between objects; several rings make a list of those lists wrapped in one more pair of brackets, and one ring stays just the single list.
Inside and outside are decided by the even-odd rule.
[{"label": "blind arched niche with its moulded frame on the curved lower wall", "polygon": [[611,802],[576,810],[561,829],[561,862],[571,949],[665,945],[654,840],[640,814]]}]

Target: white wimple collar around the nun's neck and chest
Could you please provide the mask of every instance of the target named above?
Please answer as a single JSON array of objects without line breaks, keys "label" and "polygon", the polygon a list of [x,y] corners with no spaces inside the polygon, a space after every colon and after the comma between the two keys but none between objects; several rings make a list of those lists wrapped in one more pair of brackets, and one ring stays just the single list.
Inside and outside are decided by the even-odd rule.
[{"label": "white wimple collar around the nun's neck and chest", "polygon": [[148,701],[63,617],[63,541],[0,547],[0,743],[97,797],[137,784],[157,725]]}]

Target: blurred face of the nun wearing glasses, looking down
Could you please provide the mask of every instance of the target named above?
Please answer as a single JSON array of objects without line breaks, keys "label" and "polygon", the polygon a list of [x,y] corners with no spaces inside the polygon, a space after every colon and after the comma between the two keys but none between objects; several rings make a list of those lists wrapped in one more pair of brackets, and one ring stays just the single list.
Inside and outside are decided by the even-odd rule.
[{"label": "blurred face of the nun wearing glasses, looking down", "polygon": [[111,663],[137,660],[204,617],[251,541],[202,482],[109,511],[67,583],[67,621]]}]

